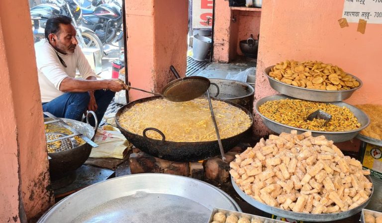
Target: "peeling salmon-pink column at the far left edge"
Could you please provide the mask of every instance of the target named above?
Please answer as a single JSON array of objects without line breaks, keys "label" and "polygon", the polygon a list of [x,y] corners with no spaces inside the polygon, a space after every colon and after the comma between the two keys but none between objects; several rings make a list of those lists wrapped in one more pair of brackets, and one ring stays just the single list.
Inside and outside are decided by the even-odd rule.
[{"label": "peeling salmon-pink column at the far left edge", "polygon": [[27,0],[0,1],[0,222],[53,204]]}]

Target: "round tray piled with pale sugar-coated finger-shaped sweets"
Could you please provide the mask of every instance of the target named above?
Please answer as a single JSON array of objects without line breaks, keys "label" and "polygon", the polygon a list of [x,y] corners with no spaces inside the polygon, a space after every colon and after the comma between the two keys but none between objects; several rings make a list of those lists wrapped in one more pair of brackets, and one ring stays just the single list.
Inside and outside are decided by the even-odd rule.
[{"label": "round tray piled with pale sugar-coated finger-shaped sweets", "polygon": [[361,212],[373,195],[370,170],[311,132],[270,135],[230,163],[233,188],[280,217],[329,222]]}]

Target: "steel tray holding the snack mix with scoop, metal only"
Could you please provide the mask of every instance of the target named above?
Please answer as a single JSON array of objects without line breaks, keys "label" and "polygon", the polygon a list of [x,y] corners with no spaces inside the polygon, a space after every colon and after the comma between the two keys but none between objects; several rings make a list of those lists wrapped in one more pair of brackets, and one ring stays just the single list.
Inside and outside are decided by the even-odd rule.
[{"label": "steel tray holding the snack mix with scoop, metal only", "polygon": [[356,137],[358,135],[358,133],[365,129],[369,124],[370,124],[370,119],[369,117],[363,112],[361,111],[360,109],[350,105],[350,104],[347,104],[345,102],[331,102],[330,104],[334,104],[334,105],[337,105],[337,106],[340,106],[340,107],[347,107],[350,109],[351,112],[353,112],[353,114],[357,117],[358,119],[358,122],[361,123],[361,128],[359,129],[356,129],[356,130],[351,130],[351,131],[345,131],[345,132],[323,132],[323,131],[312,131],[312,130],[306,130],[306,129],[300,129],[300,128],[296,128],[296,127],[292,127],[292,126],[288,126],[288,125],[284,125],[284,124],[281,124],[281,123],[278,123],[274,120],[271,120],[267,117],[265,117],[263,114],[260,113],[259,111],[259,107],[260,105],[264,104],[265,102],[267,101],[274,101],[274,100],[281,100],[281,99],[295,99],[295,98],[292,98],[292,97],[288,97],[286,95],[272,95],[272,96],[268,96],[268,97],[264,97],[260,100],[258,100],[256,102],[256,105],[255,105],[255,109],[256,109],[256,112],[261,116],[261,119],[263,121],[263,123],[272,131],[278,133],[278,134],[281,134],[281,133],[290,133],[291,130],[297,130],[298,134],[301,134],[303,132],[307,132],[307,131],[311,131],[312,132],[312,136],[314,137],[317,137],[317,136],[325,136],[325,138],[327,140],[333,140],[333,142],[335,143],[339,143],[339,142],[345,142],[345,141],[348,141],[348,140],[351,140],[353,139],[354,137]]}]

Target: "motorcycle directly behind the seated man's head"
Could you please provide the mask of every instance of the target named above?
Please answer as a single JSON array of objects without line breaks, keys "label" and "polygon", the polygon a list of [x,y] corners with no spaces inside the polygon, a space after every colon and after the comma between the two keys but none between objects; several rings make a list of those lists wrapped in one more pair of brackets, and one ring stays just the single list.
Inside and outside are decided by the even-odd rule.
[{"label": "motorcycle directly behind the seated man's head", "polygon": [[[73,26],[77,31],[77,39],[81,48],[95,48],[103,54],[103,44],[95,35],[95,32],[87,27],[78,25],[83,17],[82,9],[76,0],[47,0],[30,9],[35,34],[35,42],[44,36],[44,28],[48,18],[56,15],[66,15],[72,18]],[[38,24],[38,25],[37,25]]]}]

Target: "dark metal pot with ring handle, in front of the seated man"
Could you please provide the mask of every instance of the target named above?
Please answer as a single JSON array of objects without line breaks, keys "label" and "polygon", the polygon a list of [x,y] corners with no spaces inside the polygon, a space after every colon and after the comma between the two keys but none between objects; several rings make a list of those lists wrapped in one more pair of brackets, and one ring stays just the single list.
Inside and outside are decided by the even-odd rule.
[{"label": "dark metal pot with ring handle, in front of the seated man", "polygon": [[[60,119],[64,120],[67,124],[72,126],[78,132],[83,133],[89,139],[92,139],[92,141],[94,140],[96,128],[94,128],[90,124],[72,119]],[[51,118],[44,118],[45,122],[51,120]],[[56,122],[50,123],[49,125],[59,124]],[[85,143],[73,149],[48,153],[49,157],[51,157],[51,159],[49,159],[50,175],[52,177],[59,178],[78,169],[89,158],[91,151],[92,147],[89,144]]]}]

